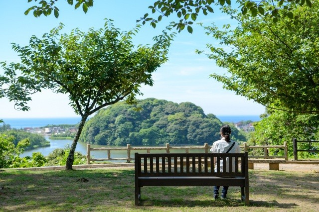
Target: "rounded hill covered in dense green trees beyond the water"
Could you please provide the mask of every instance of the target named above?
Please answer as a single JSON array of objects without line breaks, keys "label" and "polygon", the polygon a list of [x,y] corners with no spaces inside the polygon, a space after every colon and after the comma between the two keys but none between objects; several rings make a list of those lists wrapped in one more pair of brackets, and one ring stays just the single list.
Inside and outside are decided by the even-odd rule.
[{"label": "rounded hill covered in dense green trees beyond the water", "polygon": [[[139,109],[137,109],[139,108]],[[99,145],[212,144],[220,138],[222,122],[192,103],[139,100],[101,109],[83,128],[80,141]],[[244,140],[232,127],[232,139]]]}]

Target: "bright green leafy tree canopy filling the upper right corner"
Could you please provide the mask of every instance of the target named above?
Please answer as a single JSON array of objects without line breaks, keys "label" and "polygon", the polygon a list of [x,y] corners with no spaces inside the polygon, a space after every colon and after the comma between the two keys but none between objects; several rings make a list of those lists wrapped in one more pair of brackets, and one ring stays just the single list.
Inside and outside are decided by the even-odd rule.
[{"label": "bright green leafy tree canopy filling the upper right corner", "polygon": [[[207,53],[208,57],[229,73],[211,77],[227,90],[266,107],[319,113],[319,2],[311,8],[290,6],[288,13],[278,11],[280,18],[261,14],[253,17],[225,7],[224,12],[239,25],[235,29],[229,25],[223,29],[205,27],[207,34],[228,48],[207,45],[212,52]],[[289,24],[298,16],[301,24]]]}]

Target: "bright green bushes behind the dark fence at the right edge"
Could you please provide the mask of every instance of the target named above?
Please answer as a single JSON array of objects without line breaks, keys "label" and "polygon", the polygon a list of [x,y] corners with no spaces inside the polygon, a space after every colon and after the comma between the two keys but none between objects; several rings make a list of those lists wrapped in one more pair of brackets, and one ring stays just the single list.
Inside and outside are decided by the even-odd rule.
[{"label": "bright green bushes behind the dark fence at the right edge", "polygon": [[[268,109],[261,121],[255,122],[255,132],[249,145],[283,145],[288,143],[289,156],[294,155],[293,138],[297,140],[319,139],[319,114],[300,114]],[[318,143],[298,143],[298,149],[319,150]],[[269,149],[272,155],[283,156],[282,149]],[[318,157],[316,153],[298,152],[299,158]]]}]

